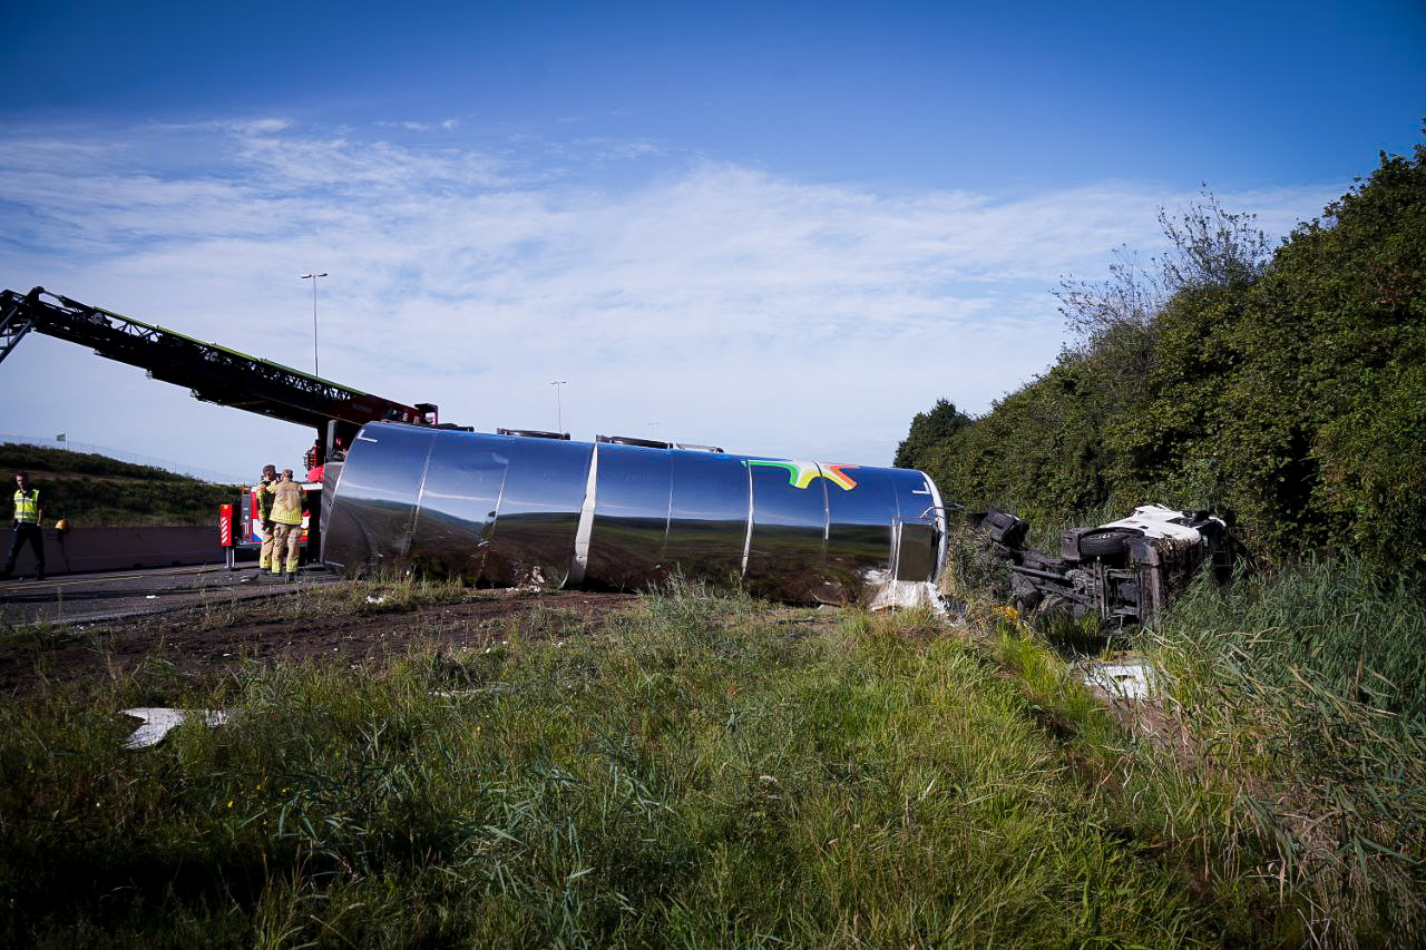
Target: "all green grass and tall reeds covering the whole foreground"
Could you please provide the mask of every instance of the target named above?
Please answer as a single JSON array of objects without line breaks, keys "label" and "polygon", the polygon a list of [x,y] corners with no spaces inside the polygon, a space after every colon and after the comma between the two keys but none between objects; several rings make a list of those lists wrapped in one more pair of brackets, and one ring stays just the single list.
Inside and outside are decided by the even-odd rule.
[{"label": "all green grass and tall reeds covering the whole foreground", "polygon": [[[978,601],[955,629],[680,591],[198,679],[155,646],[0,706],[0,940],[1412,946],[1420,690],[1373,673],[1426,620],[1343,576],[1196,591],[1142,643],[1166,699],[1134,715]],[[123,752],[134,705],[235,715]]]}]

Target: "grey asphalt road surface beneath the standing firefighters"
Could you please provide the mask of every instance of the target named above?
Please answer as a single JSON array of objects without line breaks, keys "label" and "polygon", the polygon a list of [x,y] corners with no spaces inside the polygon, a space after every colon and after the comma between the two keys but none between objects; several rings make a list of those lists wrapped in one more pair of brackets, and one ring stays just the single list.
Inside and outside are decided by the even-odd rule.
[{"label": "grey asphalt road surface beneath the standing firefighters", "polygon": [[158,613],[202,603],[282,596],[297,588],[334,583],[324,568],[304,568],[295,582],[262,575],[257,566],[154,568],[0,581],[0,623],[91,623]]}]

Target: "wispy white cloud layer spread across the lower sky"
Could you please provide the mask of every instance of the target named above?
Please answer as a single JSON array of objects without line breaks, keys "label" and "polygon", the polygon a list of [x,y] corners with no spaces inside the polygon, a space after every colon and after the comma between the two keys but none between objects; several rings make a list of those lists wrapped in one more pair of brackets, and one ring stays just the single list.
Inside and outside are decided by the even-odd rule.
[{"label": "wispy white cloud layer spread across the lower sky", "polygon": [[[552,151],[559,171],[539,160]],[[607,161],[643,163],[623,171],[640,177],[600,184],[590,170]],[[1188,197],[1134,183],[884,194],[639,141],[411,147],[281,118],[37,133],[0,145],[0,275],[307,367],[311,284],[297,277],[315,267],[331,274],[324,375],[441,402],[448,419],[550,427],[546,384],[563,378],[576,436],[659,422],[667,438],[877,464],[935,398],[983,411],[1041,371],[1061,342],[1047,291],[1102,274],[1119,244],[1155,250],[1156,208]],[[1221,195],[1275,230],[1329,197]],[[53,375],[40,349],[83,367],[58,399],[34,395]],[[37,432],[108,444],[131,427],[100,362],[27,341],[0,398]],[[145,404],[164,425],[133,432],[134,451],[202,446],[210,468],[245,471],[284,438],[307,444],[261,421],[232,429],[262,444],[251,451],[195,434],[218,411],[184,399]]]}]

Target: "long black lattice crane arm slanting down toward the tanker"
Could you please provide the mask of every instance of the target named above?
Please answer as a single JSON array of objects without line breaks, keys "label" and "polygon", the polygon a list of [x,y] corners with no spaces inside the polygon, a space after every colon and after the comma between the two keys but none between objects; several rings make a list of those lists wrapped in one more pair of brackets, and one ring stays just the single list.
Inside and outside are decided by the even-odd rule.
[{"label": "long black lattice crane arm slanting down toward the tanker", "polygon": [[0,291],[0,361],[27,332],[91,347],[100,357],[147,369],[207,402],[231,405],[317,428],[329,419],[435,422],[435,407],[411,407],[361,392],[268,359],[145,324],[36,287]]}]

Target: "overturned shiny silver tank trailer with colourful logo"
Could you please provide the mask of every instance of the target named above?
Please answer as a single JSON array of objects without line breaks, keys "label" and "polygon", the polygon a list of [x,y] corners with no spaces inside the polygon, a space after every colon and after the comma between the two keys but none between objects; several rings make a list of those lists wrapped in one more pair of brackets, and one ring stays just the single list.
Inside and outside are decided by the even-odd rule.
[{"label": "overturned shiny silver tank trailer with colourful logo", "polygon": [[623,589],[684,576],[881,606],[934,598],[945,562],[945,509],[913,469],[382,422],[324,482],[322,561],[348,575]]}]

